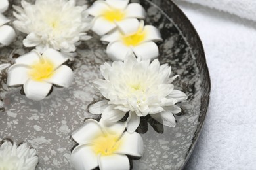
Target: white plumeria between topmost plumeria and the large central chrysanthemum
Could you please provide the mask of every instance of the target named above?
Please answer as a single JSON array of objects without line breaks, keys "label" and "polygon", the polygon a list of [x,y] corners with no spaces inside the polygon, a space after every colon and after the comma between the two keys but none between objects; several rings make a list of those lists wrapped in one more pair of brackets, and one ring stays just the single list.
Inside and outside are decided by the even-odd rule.
[{"label": "white plumeria between topmost plumeria and the large central chrysanthemum", "polygon": [[[138,21],[139,22],[139,21]],[[110,42],[107,46],[107,54],[112,60],[124,60],[129,52],[134,52],[142,59],[155,59],[158,57],[158,46],[153,41],[162,41],[160,32],[152,25],[140,25],[133,33],[121,33],[116,30],[101,39]]]}]

